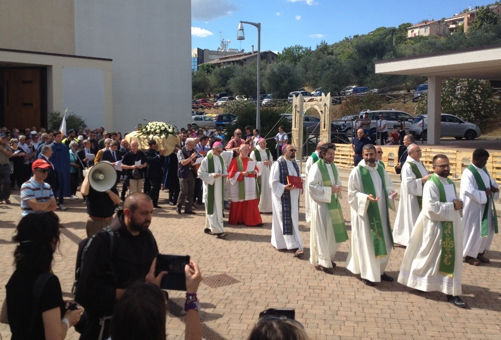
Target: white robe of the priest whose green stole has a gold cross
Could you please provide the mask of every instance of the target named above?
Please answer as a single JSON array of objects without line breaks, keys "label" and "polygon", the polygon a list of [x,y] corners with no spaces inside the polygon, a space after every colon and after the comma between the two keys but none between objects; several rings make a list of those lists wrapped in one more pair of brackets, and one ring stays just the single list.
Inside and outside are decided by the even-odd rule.
[{"label": "white robe of the priest whose green stole has a gold cross", "polygon": [[[388,264],[391,248],[391,231],[388,226],[388,212],[386,209],[386,199],[388,193],[393,190],[393,183],[386,170],[383,169],[386,188],[383,188],[383,182],[376,168],[366,165],[365,160],[360,161],[359,165],[369,170],[376,196],[379,196],[378,208],[383,226],[383,235],[386,244],[386,256],[376,257],[374,245],[372,243],[371,229],[367,208],[369,200],[364,193],[360,170],[356,166],[348,178],[348,203],[351,212],[351,248],[346,259],[346,268],[354,274],[360,274],[362,278],[372,282],[380,282],[381,275]],[[388,207],[395,210],[395,202],[388,198]]]}]

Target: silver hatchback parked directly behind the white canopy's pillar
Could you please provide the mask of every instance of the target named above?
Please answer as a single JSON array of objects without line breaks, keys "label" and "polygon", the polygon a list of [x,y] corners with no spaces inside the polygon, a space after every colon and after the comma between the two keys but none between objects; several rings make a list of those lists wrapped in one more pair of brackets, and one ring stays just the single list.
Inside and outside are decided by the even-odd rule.
[{"label": "silver hatchback parked directly behind the white canopy's pillar", "polygon": [[[426,140],[428,138],[428,115],[417,116],[409,128],[416,139]],[[440,115],[440,137],[454,137],[470,141],[480,136],[480,128],[476,124],[468,123],[462,119],[442,113]]]}]

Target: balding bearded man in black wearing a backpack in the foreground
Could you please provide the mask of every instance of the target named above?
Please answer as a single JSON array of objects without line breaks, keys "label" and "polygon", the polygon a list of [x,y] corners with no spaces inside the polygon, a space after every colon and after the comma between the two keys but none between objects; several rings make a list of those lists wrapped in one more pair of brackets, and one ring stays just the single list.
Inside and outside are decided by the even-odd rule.
[{"label": "balding bearded man in black wearing a backpack in the foreground", "polygon": [[[109,337],[109,317],[115,302],[137,280],[160,286],[166,272],[155,276],[158,248],[149,230],[153,214],[153,202],[143,193],[135,192],[127,197],[124,209],[119,210],[106,229],[95,234],[85,253],[85,265],[80,267],[80,279],[75,300],[84,306],[89,315],[81,340],[97,339],[103,319],[103,336]],[[112,236],[114,235],[114,236]],[[110,254],[110,238],[113,252]],[[113,269],[110,269],[113,268]]]}]

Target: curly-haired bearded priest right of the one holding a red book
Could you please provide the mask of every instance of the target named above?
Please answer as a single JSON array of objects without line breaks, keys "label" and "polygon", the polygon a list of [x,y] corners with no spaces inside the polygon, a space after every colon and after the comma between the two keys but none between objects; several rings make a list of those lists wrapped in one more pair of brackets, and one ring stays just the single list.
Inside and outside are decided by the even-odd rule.
[{"label": "curly-haired bearded priest right of the one holding a red book", "polygon": [[336,145],[320,146],[321,159],[312,165],[308,174],[311,197],[310,262],[315,269],[332,273],[334,256],[339,245],[348,240],[348,232],[339,204],[341,177],[334,164]]}]

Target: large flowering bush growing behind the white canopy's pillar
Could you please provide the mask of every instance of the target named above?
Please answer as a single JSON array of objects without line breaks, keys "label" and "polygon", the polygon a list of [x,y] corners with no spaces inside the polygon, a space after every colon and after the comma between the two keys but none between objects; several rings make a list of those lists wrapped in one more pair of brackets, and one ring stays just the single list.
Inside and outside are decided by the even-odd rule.
[{"label": "large flowering bush growing behind the white canopy's pillar", "polygon": [[[459,92],[457,89],[459,88]],[[450,113],[474,123],[484,130],[495,117],[498,106],[492,100],[489,82],[477,79],[451,78],[442,82],[441,105],[443,113]],[[428,97],[422,96],[416,106],[416,115],[428,112]]]}]

